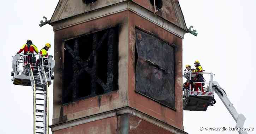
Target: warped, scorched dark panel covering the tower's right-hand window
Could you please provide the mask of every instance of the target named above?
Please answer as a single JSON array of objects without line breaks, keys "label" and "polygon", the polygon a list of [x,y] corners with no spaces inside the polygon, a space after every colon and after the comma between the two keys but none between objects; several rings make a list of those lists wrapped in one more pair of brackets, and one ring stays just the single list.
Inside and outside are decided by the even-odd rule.
[{"label": "warped, scorched dark panel covering the tower's right-hand window", "polygon": [[136,29],[135,91],[175,109],[174,48]]}]

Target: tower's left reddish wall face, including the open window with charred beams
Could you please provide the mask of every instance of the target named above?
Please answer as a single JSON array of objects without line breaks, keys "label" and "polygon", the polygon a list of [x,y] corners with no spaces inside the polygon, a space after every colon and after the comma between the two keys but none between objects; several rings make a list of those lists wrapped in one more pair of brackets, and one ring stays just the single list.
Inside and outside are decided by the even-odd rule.
[{"label": "tower's left reddish wall face, including the open window with charred beams", "polygon": [[127,31],[128,11],[55,31],[53,125],[128,105]]}]

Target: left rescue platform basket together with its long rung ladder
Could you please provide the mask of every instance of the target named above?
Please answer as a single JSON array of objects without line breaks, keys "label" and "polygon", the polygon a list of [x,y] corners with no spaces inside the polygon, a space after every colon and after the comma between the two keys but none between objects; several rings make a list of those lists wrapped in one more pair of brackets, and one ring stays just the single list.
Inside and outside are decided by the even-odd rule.
[{"label": "left rescue platform basket together with its long rung ladder", "polygon": [[33,90],[33,134],[49,133],[48,87],[54,65],[52,56],[21,53],[12,59],[13,84],[30,86]]}]

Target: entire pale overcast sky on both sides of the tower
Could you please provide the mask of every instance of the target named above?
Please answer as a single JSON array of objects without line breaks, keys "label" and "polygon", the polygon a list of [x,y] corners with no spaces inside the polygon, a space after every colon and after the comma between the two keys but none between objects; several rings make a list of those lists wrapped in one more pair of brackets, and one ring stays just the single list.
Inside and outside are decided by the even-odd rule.
[{"label": "entire pale overcast sky on both sides of the tower", "polygon": [[[195,37],[185,34],[183,67],[200,60],[206,72],[215,74],[238,113],[246,117],[245,127],[255,125],[255,0],[179,0],[186,25],[193,25]],[[11,59],[20,47],[31,39],[41,49],[45,43],[54,44],[52,26],[39,27],[43,16],[52,16],[58,0],[8,0],[0,5],[1,97],[0,134],[32,132],[32,89],[13,85]],[[53,48],[48,53],[53,55]],[[183,70],[185,67],[183,68]],[[49,88],[50,124],[52,119],[52,90]],[[200,127],[235,127],[236,123],[217,95],[217,103],[206,112],[184,111],[185,132],[190,134],[237,134],[206,132]],[[256,130],[255,130],[256,131]],[[50,131],[51,132],[51,131]],[[255,132],[248,132],[253,134]]]}]

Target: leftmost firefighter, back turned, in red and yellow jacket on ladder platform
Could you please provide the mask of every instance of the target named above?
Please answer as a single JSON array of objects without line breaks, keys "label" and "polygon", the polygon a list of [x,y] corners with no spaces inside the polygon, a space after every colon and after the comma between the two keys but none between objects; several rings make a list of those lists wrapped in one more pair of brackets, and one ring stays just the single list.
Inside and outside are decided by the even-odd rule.
[{"label": "leftmost firefighter, back turned, in red and yellow jacket on ladder platform", "polygon": [[[30,63],[31,66],[32,66],[32,57],[33,57],[33,54],[34,54],[34,51],[36,53],[38,53],[38,49],[37,47],[32,43],[32,41],[29,39],[27,40],[27,43],[24,44],[20,50],[17,52],[17,54],[21,53],[22,51],[24,50],[24,55],[25,55],[25,58],[24,58],[24,63],[27,64],[27,63]],[[26,56],[27,55],[27,56]]]}]

